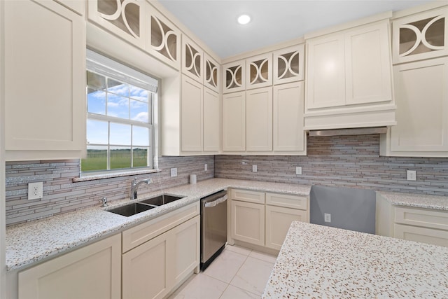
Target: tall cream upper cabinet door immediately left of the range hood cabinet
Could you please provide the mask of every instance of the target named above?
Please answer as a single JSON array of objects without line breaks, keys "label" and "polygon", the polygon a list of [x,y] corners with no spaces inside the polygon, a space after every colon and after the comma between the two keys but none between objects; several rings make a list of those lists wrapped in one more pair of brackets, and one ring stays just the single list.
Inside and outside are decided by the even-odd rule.
[{"label": "tall cream upper cabinet door immediately left of the range hood cabinet", "polygon": [[306,154],[307,133],[303,130],[304,83],[274,86],[274,151]]}]

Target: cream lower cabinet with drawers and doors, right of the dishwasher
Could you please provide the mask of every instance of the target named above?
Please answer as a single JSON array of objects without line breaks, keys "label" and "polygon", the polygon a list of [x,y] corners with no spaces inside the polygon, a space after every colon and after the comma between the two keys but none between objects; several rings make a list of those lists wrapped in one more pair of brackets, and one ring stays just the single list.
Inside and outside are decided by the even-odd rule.
[{"label": "cream lower cabinet with drawers and doors, right of the dishwasher", "polygon": [[309,222],[307,196],[230,190],[233,240],[279,250],[292,221]]}]

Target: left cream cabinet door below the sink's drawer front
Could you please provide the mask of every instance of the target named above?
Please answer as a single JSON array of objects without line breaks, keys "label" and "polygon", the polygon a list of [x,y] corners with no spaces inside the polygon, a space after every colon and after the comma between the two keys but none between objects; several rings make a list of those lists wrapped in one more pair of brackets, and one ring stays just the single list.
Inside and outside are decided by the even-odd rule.
[{"label": "left cream cabinet door below the sink's drawer front", "polygon": [[169,234],[164,233],[123,254],[123,299],[163,298],[173,286]]}]

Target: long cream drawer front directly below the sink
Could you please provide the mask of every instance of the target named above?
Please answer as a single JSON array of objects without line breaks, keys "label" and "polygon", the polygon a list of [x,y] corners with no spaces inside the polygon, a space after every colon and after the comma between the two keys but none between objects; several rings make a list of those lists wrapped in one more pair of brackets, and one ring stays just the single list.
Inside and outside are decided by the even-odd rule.
[{"label": "long cream drawer front directly below the sink", "polygon": [[122,233],[123,253],[199,214],[200,202],[194,202],[193,204],[188,204],[185,207],[154,218],[146,223],[134,226],[134,228],[125,230]]}]

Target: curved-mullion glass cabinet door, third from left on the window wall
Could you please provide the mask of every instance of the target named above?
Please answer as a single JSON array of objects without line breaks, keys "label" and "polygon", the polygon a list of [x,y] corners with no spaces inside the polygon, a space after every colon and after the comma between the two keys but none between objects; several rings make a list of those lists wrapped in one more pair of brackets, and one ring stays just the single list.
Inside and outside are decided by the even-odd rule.
[{"label": "curved-mullion glass cabinet door, third from left on the window wall", "polygon": [[184,34],[182,36],[182,72],[201,84],[204,82],[203,56],[202,49]]}]

